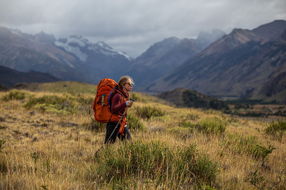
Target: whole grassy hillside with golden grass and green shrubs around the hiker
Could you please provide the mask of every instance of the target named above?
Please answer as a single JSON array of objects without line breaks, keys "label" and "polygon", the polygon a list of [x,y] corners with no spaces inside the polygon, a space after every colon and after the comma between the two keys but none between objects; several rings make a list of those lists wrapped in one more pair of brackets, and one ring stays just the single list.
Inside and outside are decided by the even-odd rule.
[{"label": "whole grassy hillside with golden grass and green shrubs around the hiker", "polygon": [[106,129],[96,133],[88,113],[94,90],[58,85],[0,92],[0,189],[286,189],[286,137],[273,132],[283,118],[230,117],[132,93],[132,143],[117,140],[96,158]]}]

